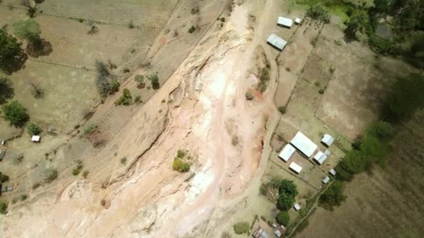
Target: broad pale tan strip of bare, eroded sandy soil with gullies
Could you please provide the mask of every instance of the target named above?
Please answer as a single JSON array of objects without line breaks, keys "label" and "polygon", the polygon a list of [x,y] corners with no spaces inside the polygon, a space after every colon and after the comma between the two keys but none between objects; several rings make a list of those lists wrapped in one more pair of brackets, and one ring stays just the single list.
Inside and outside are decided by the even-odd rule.
[{"label": "broad pale tan strip of bare, eroded sandy soil with gullies", "polygon": [[[128,158],[128,166],[119,169],[116,163],[115,170],[90,175],[92,180],[59,180],[31,208],[11,209],[2,218],[2,236],[197,236],[217,214],[226,214],[227,199],[238,203],[259,166],[266,118],[275,115],[275,85],[261,99],[245,100],[246,90],[257,84],[248,72],[258,63],[245,6],[234,8],[218,29],[206,33],[167,83],[90,159],[111,161],[116,153]],[[172,170],[181,148],[195,155],[187,174]],[[109,185],[101,189],[106,171],[112,172]]]}]

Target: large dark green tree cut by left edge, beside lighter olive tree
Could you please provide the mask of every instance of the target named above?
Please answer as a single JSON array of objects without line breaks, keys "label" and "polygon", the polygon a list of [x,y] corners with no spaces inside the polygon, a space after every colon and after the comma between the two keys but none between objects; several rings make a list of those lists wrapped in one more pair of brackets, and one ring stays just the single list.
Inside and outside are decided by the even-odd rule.
[{"label": "large dark green tree cut by left edge, beside lighter olive tree", "polygon": [[27,60],[27,54],[21,49],[21,43],[6,31],[0,29],[0,70],[14,72]]}]

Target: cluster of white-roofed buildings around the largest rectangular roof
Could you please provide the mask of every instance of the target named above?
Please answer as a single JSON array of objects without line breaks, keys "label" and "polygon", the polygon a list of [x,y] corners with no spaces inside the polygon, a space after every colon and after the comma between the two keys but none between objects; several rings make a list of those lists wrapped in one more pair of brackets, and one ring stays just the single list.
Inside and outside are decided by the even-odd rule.
[{"label": "cluster of white-roofed buildings around the largest rectangular roof", "polygon": [[[326,150],[323,152],[321,150],[318,150],[316,153],[315,151],[318,148],[318,145],[316,145],[313,141],[308,138],[308,136],[305,136],[302,132],[297,132],[296,136],[290,141],[290,143],[287,143],[284,148],[282,148],[280,154],[278,154],[278,157],[282,159],[282,161],[289,161],[290,157],[292,157],[293,153],[298,150],[303,156],[310,159],[312,157],[312,154],[315,154],[312,157],[312,160],[315,161],[316,164],[321,165],[326,161],[328,156],[330,156],[331,152],[328,150],[328,147],[333,144],[334,138],[333,136],[329,134],[324,134],[324,136],[321,138],[321,143],[326,146]],[[293,170],[295,173],[301,173],[302,167],[295,162],[291,162],[289,165],[289,168]],[[331,169],[329,171],[331,175],[335,175],[336,172],[334,169]],[[322,182],[326,184],[330,180],[329,177],[324,177]]]}]

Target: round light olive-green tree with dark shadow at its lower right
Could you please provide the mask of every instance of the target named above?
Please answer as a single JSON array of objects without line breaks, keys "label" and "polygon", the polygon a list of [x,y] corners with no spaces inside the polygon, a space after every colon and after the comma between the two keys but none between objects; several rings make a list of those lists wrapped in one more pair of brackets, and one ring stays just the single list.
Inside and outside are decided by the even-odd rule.
[{"label": "round light olive-green tree with dark shadow at its lower right", "polygon": [[12,31],[17,38],[29,40],[30,42],[40,41],[41,28],[33,19],[25,19],[14,22],[12,24]]}]

